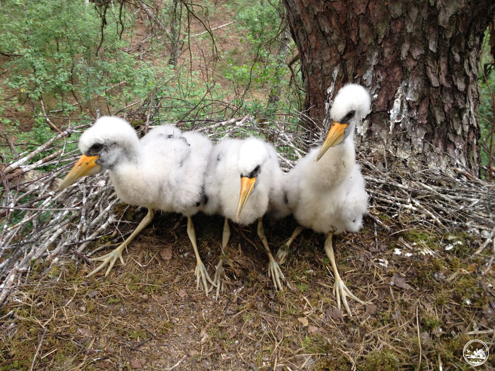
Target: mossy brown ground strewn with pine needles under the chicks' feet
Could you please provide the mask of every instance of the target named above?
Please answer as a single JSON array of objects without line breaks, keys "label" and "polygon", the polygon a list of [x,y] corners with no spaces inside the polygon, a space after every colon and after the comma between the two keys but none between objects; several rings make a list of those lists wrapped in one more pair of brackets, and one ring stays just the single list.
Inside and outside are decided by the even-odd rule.
[{"label": "mossy brown ground strewn with pine needles under the chicks' feet", "polygon": [[[120,232],[145,212],[128,213]],[[325,236],[309,230],[281,266],[291,288],[277,292],[255,226],[232,226],[219,301],[196,289],[186,221],[174,230],[176,215],[158,215],[108,278],[86,278],[93,266],[82,258],[49,272],[34,263],[0,309],[0,370],[467,370],[467,341],[494,349],[494,268],[476,273],[488,256],[471,256],[478,243],[467,234],[377,216],[388,230],[365,218],[361,232],[334,237],[342,278],[369,302],[350,300],[351,318],[336,309]],[[213,277],[223,220],[194,220]],[[295,226],[265,221],[274,253]],[[479,369],[494,370],[493,360]]]}]

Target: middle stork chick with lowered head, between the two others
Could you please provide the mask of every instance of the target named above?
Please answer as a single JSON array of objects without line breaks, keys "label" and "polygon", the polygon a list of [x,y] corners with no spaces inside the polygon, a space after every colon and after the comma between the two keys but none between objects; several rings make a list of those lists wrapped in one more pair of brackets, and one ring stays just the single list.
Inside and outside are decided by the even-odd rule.
[{"label": "middle stork chick with lowered head, between the two others", "polygon": [[[257,233],[268,255],[268,277],[277,289],[282,289],[282,271],[268,247],[263,229],[263,216],[269,212],[276,217],[290,213],[284,203],[282,177],[275,148],[257,138],[224,139],[211,152],[205,182],[208,202],[204,213],[225,218],[222,251],[230,238],[229,220],[247,226],[258,220]],[[216,298],[223,289],[222,259],[217,265],[213,281]]]}]

